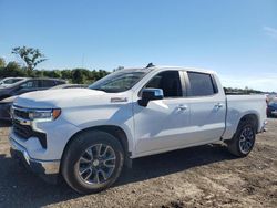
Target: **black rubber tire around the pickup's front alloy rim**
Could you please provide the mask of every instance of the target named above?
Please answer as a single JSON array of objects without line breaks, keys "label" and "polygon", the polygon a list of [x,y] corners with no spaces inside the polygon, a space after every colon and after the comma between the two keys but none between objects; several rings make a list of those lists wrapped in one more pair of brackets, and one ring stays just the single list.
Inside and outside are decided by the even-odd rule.
[{"label": "black rubber tire around the pickup's front alloy rim", "polygon": [[[96,148],[98,145],[102,144],[105,147],[109,147],[109,150],[113,153],[115,156],[115,159],[113,160],[114,166],[112,174],[109,176],[106,180],[104,180],[101,184],[89,184],[89,181],[85,181],[83,178],[83,175],[80,171],[81,168],[81,157],[84,158],[84,155],[89,152],[88,149],[91,148],[90,153],[94,152],[92,148]],[[102,145],[100,146],[100,152],[102,148]],[[111,147],[111,148],[110,148]],[[113,150],[113,152],[112,152]],[[104,150],[106,153],[106,149]],[[88,156],[86,156],[88,157]],[[94,158],[92,156],[91,158]],[[92,171],[92,168],[96,168],[96,166],[93,165],[93,163],[96,159],[91,159],[90,171]],[[106,162],[102,162],[102,164],[105,164]],[[113,185],[116,179],[119,178],[122,167],[124,163],[124,150],[121,146],[121,143],[111,134],[107,134],[105,132],[100,131],[88,131],[80,135],[78,135],[73,141],[69,144],[69,147],[65,149],[63,160],[62,160],[62,176],[64,177],[65,181],[69,184],[70,187],[72,187],[74,190],[76,190],[80,194],[91,194],[91,193],[99,193],[103,189],[106,189],[111,185]],[[100,162],[99,162],[100,164]],[[98,165],[103,166],[104,165]],[[110,165],[111,166],[111,165]],[[96,176],[98,180],[100,181],[100,177],[102,175],[102,179],[104,179],[104,175],[99,175],[99,170],[95,170],[94,176]],[[88,173],[89,175],[89,173]],[[92,175],[92,174],[91,174]],[[93,177],[94,178],[94,177]],[[89,179],[88,179],[89,180]]]}]

